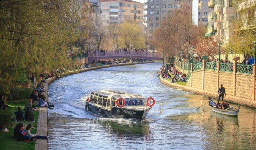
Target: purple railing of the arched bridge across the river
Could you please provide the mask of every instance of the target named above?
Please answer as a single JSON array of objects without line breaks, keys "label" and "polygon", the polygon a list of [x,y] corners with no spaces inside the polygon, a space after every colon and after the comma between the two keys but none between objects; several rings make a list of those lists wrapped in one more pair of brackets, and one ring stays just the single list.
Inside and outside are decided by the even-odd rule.
[{"label": "purple railing of the arched bridge across the river", "polygon": [[103,56],[146,56],[146,57],[162,57],[162,53],[158,52],[143,52],[143,51],[105,51],[105,52],[90,52],[89,57],[103,57]]}]

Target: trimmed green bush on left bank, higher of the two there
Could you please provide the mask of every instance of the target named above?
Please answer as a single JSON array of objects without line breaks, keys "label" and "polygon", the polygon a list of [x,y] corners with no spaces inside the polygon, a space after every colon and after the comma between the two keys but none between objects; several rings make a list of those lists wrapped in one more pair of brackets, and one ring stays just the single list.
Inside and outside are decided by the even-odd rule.
[{"label": "trimmed green bush on left bank, higher of the two there", "polygon": [[10,94],[13,99],[29,98],[32,91],[31,88],[12,88]]}]

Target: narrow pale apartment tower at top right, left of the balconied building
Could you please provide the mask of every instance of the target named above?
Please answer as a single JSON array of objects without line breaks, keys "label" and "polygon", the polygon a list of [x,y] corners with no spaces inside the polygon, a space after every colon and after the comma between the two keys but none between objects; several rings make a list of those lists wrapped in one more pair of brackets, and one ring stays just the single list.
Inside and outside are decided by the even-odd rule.
[{"label": "narrow pale apartment tower at top right, left of the balconied building", "polygon": [[214,7],[208,7],[208,0],[198,0],[198,25],[204,25],[207,28],[208,13],[213,10]]}]

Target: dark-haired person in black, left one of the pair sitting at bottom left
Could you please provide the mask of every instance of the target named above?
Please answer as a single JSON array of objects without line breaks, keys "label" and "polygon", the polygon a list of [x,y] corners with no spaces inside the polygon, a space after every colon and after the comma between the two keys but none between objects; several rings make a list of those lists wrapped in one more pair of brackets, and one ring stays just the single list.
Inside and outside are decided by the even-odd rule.
[{"label": "dark-haired person in black, left one of the pair sitting at bottom left", "polygon": [[[26,133],[24,132],[24,126],[21,122],[17,124],[14,129],[14,137],[17,138],[18,141],[30,142],[31,140],[29,136],[26,136]],[[36,140],[36,139],[33,139],[33,140]]]}]

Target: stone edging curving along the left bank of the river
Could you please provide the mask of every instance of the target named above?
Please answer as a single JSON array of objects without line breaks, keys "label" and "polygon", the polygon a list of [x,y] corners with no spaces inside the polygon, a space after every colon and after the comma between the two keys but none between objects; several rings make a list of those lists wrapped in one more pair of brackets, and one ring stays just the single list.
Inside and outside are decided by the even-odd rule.
[{"label": "stone edging curving along the left bank of the river", "polygon": [[[84,68],[80,70],[75,71],[68,71],[63,76],[69,76],[72,74],[78,74],[81,72],[86,72],[90,70],[96,70],[101,68],[108,68],[108,67],[114,67],[114,66],[126,66],[126,65],[134,65],[134,64],[146,64],[146,63],[153,63],[154,61],[148,61],[148,62],[133,62],[133,63],[124,63],[124,64],[111,64],[111,65],[104,65],[104,66],[96,66],[96,67],[90,67],[90,68]],[[48,101],[48,85],[50,85],[56,78],[50,78],[46,80],[46,83],[44,84],[46,101]],[[47,114],[47,108],[43,107],[39,110],[39,117],[38,117],[38,128],[37,133],[46,136],[47,135],[47,120],[48,120],[48,114]],[[47,150],[47,141],[46,140],[36,140],[35,150]]]}]

